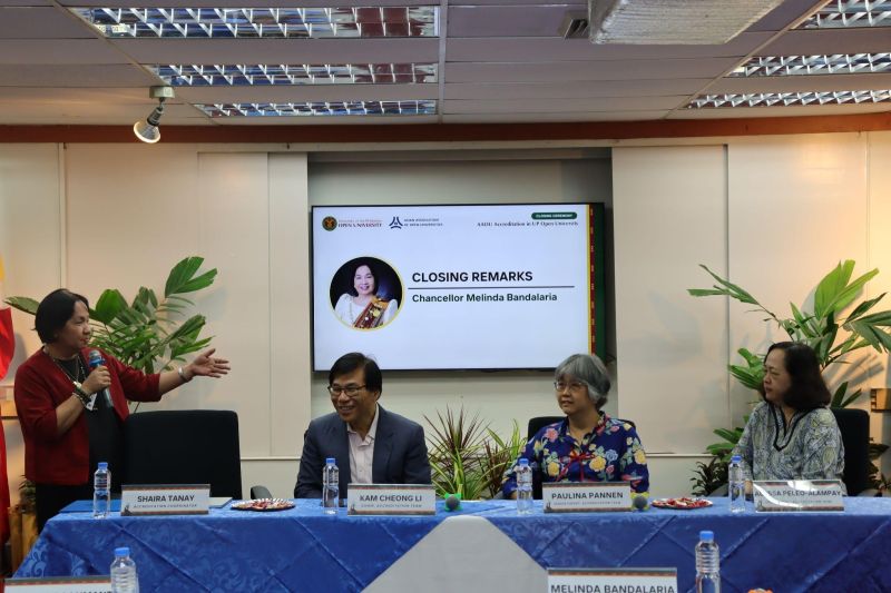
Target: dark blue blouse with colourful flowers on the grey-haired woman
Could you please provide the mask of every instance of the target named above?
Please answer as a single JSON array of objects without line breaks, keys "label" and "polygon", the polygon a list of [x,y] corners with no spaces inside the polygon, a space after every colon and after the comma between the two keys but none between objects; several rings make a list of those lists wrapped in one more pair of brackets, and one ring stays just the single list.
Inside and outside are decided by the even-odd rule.
[{"label": "dark blue blouse with colourful flowers on the grey-haired woman", "polygon": [[506,497],[517,490],[516,468],[521,458],[529,459],[532,472],[542,482],[619,482],[631,483],[631,492],[649,490],[647,455],[637,431],[626,422],[600,415],[594,429],[581,443],[569,434],[569,421],[541,428],[505,473],[501,486]]}]

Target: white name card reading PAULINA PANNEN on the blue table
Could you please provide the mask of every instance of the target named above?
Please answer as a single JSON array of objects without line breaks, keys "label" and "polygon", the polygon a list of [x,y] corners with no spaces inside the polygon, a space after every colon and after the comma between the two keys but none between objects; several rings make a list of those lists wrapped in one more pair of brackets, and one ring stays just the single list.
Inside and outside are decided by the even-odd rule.
[{"label": "white name card reading PAULINA PANNEN on the blue table", "polygon": [[631,510],[628,482],[555,482],[541,484],[546,513],[590,513]]}]

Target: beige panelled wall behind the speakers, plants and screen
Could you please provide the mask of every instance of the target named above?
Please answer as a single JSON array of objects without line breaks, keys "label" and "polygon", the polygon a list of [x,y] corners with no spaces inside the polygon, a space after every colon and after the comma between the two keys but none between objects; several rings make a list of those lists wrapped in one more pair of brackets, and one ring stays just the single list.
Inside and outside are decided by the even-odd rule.
[{"label": "beige panelled wall behind the speakers, plants and screen", "polygon": [[[697,264],[781,310],[843,258],[884,270],[871,295],[891,288],[891,134],[689,144],[624,142],[611,164],[603,150],[579,148],[427,147],[307,162],[283,146],[0,145],[6,291],[39,297],[67,285],[95,296],[116,286],[131,296],[143,283],[161,288],[180,257],[206,257],[219,277],[197,306],[233,373],[155,407],[237,411],[245,484],[288,495],[303,428],[330,405],[324,378],[309,370],[311,204],[604,200],[615,225],[617,355],[607,409],[637,422],[654,493],[686,493],[712,428],[745,411],[748,394],[727,379],[727,362],[740,345],[772,337],[743,307],[687,296],[709,284]],[[14,323],[20,363],[39,344],[27,316]],[[885,358],[865,360],[866,386],[891,382]],[[549,382],[535,373],[401,373],[385,377],[383,402],[421,422],[463,404],[505,431],[512,418],[525,425],[554,413]],[[16,487],[21,437],[14,421],[3,424]],[[890,441],[884,418],[873,415],[873,424],[874,436]]]}]

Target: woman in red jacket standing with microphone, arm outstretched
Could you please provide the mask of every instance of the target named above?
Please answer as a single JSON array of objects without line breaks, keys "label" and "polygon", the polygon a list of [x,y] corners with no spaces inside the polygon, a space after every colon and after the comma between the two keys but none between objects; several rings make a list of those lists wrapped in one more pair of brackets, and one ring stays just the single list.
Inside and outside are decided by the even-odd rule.
[{"label": "woman in red jacket standing with microphone, arm outstretched", "polygon": [[112,480],[121,475],[127,399],[157,402],[195,376],[221,377],[229,369],[210,348],[176,370],[146,375],[88,348],[89,320],[85,297],[63,288],[47,295],[35,316],[43,346],[16,373],[25,476],[36,485],[38,530],[66,505],[92,495],[90,477],[99,462],[109,462]]}]

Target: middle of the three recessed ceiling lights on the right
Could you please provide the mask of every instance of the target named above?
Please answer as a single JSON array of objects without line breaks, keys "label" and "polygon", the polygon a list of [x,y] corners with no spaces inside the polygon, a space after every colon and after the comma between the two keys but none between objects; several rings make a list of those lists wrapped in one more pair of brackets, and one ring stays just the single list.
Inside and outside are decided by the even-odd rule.
[{"label": "middle of the three recessed ceiling lights on the right", "polygon": [[891,53],[762,56],[736,67],[728,78],[824,76],[891,72]]}]

